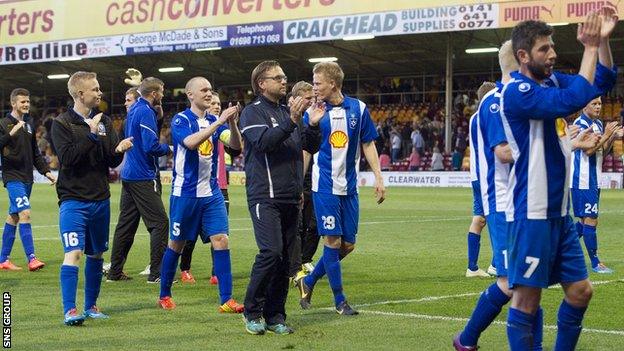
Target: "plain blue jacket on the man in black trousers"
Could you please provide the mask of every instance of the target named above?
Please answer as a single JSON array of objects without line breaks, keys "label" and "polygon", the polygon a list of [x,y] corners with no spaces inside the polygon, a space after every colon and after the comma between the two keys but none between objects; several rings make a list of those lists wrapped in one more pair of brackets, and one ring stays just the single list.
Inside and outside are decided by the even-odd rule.
[{"label": "plain blue jacket on the man in black trousers", "polygon": [[130,107],[125,136],[133,137],[134,147],[126,152],[126,161],[121,170],[121,179],[142,181],[156,179],[158,158],[169,152],[169,145],[160,144],[156,127],[156,111],[143,98]]}]

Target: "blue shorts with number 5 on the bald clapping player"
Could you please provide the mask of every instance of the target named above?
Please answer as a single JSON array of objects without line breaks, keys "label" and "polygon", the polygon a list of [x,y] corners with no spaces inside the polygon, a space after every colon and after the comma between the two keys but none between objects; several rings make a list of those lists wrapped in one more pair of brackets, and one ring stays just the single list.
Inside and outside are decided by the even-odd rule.
[{"label": "blue shorts with number 5 on the bald clapping player", "polygon": [[227,234],[228,219],[221,192],[208,197],[171,196],[169,201],[169,239],[196,240],[204,243],[210,236]]}]

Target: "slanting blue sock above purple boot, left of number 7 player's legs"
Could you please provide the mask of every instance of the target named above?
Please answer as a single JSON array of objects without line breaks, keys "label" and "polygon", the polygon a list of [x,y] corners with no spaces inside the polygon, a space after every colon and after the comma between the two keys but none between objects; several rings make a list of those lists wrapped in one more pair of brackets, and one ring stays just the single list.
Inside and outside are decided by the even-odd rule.
[{"label": "slanting blue sock above purple boot, left of number 7 player's legs", "polygon": [[496,283],[490,285],[481,294],[470,320],[459,336],[459,342],[464,346],[476,346],[481,333],[498,316],[507,302],[509,302],[509,297],[498,285]]}]

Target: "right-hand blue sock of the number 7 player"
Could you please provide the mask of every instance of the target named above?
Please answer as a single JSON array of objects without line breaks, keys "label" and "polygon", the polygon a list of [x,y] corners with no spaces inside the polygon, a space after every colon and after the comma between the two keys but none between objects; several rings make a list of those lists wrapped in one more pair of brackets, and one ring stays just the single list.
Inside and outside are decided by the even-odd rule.
[{"label": "right-hand blue sock of the number 7 player", "polygon": [[557,314],[557,341],[555,342],[555,351],[574,350],[579,336],[581,336],[581,322],[587,307],[574,307],[566,302],[561,301],[559,313]]}]

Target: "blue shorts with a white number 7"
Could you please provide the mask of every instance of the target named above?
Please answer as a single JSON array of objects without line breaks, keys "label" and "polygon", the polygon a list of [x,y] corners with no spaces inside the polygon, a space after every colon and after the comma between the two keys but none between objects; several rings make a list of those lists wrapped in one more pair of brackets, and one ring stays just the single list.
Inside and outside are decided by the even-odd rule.
[{"label": "blue shorts with a white number 7", "polygon": [[547,288],[587,279],[587,266],[572,217],[509,223],[509,286]]}]

